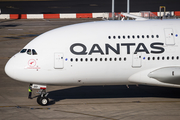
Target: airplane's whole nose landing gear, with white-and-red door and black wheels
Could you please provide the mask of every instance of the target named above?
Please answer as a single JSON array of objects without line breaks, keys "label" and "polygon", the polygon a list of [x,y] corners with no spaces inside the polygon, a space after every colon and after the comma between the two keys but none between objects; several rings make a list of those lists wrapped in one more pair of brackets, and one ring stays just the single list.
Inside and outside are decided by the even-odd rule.
[{"label": "airplane's whole nose landing gear, with white-and-red door and black wheels", "polygon": [[49,104],[49,99],[48,99],[48,93],[46,92],[46,86],[44,85],[37,85],[33,84],[32,85],[33,89],[40,89],[37,93],[40,95],[37,98],[37,103],[42,106],[46,106]]}]

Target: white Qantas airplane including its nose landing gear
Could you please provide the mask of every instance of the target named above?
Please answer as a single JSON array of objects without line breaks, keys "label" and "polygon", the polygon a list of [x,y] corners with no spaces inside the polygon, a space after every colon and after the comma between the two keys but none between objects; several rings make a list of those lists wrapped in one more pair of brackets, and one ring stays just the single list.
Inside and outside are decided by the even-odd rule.
[{"label": "white Qantas airplane including its nose landing gear", "polygon": [[[6,74],[46,85],[153,85],[180,87],[180,20],[80,23],[48,31],[5,66]],[[44,85],[44,86],[41,86]]]}]

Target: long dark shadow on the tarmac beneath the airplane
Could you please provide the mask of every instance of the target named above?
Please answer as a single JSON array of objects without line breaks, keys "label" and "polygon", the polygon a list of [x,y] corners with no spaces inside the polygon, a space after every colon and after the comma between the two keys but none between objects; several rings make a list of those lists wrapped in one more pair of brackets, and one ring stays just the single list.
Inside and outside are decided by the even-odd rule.
[{"label": "long dark shadow on the tarmac beneath the airplane", "polygon": [[162,97],[180,98],[180,89],[154,87],[154,86],[81,86],[69,89],[48,91],[50,104],[63,99],[95,99],[95,98],[137,98],[137,97]]}]

